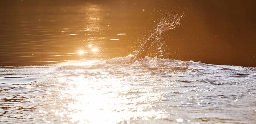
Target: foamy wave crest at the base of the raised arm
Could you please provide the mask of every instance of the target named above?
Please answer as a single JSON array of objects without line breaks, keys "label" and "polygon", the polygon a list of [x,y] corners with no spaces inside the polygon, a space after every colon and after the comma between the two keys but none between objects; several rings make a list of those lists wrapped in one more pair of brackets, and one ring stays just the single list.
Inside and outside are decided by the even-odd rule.
[{"label": "foamy wave crest at the base of the raised arm", "polygon": [[187,67],[189,64],[195,64],[193,61],[184,62],[179,60],[166,60],[156,57],[146,56],[143,60],[131,63],[131,57],[110,58],[108,60],[85,60],[85,61],[68,61],[58,64],[56,70],[70,69],[97,69],[97,68],[170,68],[170,67]]}]

